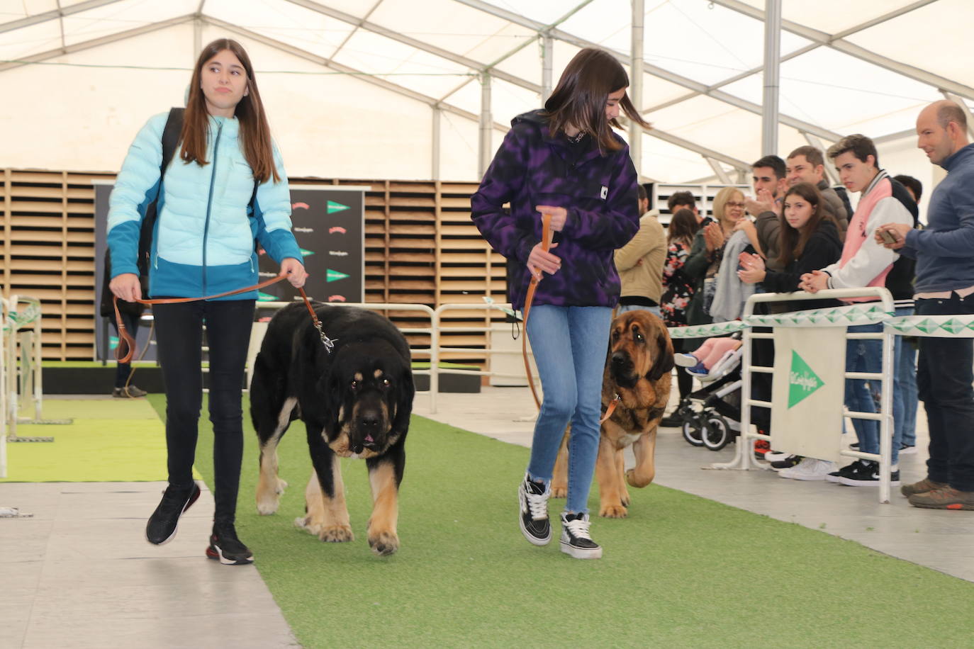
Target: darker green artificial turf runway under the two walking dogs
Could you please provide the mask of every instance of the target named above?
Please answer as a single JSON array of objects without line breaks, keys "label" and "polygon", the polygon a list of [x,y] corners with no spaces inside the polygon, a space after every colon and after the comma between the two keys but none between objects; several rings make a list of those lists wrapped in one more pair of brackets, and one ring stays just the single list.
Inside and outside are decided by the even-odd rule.
[{"label": "darker green artificial turf runway under the two walking dogs", "polygon": [[[164,397],[150,399],[164,410]],[[207,425],[203,417],[197,468],[212,487]],[[279,449],[290,487],[279,513],[260,517],[247,425],[238,530],[308,648],[974,643],[974,584],[665,487],[632,489],[628,519],[593,522],[603,559],[561,554],[557,531],[551,545],[531,546],[515,496],[528,451],[419,416],[406,443],[398,554],[368,549],[361,460],[342,461],[356,539],[321,543],[293,525],[311,471],[296,428]],[[563,502],[551,505],[556,513]],[[590,506],[597,511],[597,487]]]}]

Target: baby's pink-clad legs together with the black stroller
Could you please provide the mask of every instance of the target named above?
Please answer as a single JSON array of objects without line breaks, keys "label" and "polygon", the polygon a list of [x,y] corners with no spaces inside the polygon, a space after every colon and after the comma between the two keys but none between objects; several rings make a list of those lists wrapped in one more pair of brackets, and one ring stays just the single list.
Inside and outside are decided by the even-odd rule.
[{"label": "baby's pink-clad legs together with the black stroller", "polygon": [[742,354],[740,333],[736,333],[707,339],[693,352],[676,355],[676,364],[703,383],[677,409],[684,439],[694,447],[720,451],[740,432]]}]

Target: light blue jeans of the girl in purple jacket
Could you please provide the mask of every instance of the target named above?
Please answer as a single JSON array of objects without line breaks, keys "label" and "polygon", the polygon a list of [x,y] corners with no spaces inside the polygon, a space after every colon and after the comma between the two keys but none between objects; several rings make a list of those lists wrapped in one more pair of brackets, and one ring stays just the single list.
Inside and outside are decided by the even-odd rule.
[{"label": "light blue jeans of the girl in purple jacket", "polygon": [[588,491],[599,452],[602,373],[609,347],[608,306],[550,306],[531,309],[527,333],[542,379],[544,399],[531,443],[528,475],[551,481],[565,427],[568,443],[567,513],[588,512]]}]

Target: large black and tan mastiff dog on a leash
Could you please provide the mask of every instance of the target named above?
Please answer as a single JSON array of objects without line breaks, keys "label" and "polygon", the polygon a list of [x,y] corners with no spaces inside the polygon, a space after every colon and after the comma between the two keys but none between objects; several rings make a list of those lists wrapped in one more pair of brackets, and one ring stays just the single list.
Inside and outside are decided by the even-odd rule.
[{"label": "large black and tan mastiff dog on a leash", "polygon": [[380,556],[399,547],[398,491],[413,408],[409,344],[385,317],[355,306],[313,303],[322,343],[304,304],[285,306],[267,328],[250,383],[250,416],[260,442],[257,511],[278,510],[278,444],[294,419],[308,431],[315,467],[305,489],[307,516],[295,523],[322,541],[355,537],[339,457],[365,460],[372,487],[368,544]]}]

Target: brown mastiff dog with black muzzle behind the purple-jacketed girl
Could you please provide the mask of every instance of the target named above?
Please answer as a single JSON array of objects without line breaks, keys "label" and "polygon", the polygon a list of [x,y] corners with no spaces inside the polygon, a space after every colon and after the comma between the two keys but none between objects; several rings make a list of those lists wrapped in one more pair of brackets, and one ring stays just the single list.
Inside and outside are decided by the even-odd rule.
[{"label": "brown mastiff dog with black muzzle behind the purple-jacketed girl", "polygon": [[[602,379],[603,410],[617,399],[602,423],[595,476],[599,481],[599,516],[626,516],[629,490],[646,487],[656,476],[656,426],[666,410],[673,369],[673,343],[662,320],[646,310],[626,311],[612,322],[609,353]],[[564,497],[568,486],[568,437],[565,433],[551,479],[551,495]],[[623,451],[632,446],[636,466],[625,470]]]}]

